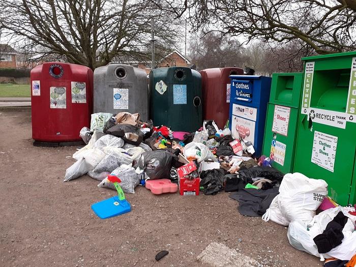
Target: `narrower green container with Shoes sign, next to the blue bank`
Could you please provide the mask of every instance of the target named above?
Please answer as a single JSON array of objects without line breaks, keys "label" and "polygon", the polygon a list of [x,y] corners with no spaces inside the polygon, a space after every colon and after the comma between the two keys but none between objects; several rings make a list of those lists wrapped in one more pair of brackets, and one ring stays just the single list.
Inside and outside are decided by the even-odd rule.
[{"label": "narrower green container with Shoes sign, next to the blue bank", "polygon": [[264,128],[263,155],[283,173],[293,172],[302,73],[273,73]]}]

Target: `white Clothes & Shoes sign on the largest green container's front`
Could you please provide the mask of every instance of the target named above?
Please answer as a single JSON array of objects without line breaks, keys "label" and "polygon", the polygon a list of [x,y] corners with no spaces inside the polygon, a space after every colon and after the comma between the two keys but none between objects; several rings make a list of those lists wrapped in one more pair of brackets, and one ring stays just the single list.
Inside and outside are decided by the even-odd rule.
[{"label": "white Clothes & Shoes sign on the largest green container's front", "polygon": [[337,144],[337,136],[315,131],[311,162],[334,172]]}]

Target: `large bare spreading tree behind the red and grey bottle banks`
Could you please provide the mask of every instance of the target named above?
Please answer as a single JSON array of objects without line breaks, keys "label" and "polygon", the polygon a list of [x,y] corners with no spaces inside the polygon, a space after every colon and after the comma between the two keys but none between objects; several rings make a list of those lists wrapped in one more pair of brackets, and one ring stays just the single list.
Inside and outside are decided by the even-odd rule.
[{"label": "large bare spreading tree behind the red and grey bottle banks", "polygon": [[174,47],[180,35],[173,31],[179,20],[150,1],[0,0],[0,6],[0,26],[21,50],[65,54],[69,62],[92,69],[117,54],[146,56],[152,17],[165,46]]}]

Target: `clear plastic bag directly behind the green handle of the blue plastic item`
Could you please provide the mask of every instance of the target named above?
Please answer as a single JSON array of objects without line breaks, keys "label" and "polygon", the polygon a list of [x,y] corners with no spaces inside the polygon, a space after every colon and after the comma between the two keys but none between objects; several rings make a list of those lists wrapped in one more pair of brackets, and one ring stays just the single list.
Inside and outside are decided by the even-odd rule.
[{"label": "clear plastic bag directly behind the green handle of the blue plastic item", "polygon": [[[122,165],[111,172],[120,180],[120,186],[125,193],[135,193],[135,187],[140,183],[140,175],[135,172],[135,169],[130,165]],[[98,185],[98,187],[111,188],[116,190],[114,184],[107,177]]]}]

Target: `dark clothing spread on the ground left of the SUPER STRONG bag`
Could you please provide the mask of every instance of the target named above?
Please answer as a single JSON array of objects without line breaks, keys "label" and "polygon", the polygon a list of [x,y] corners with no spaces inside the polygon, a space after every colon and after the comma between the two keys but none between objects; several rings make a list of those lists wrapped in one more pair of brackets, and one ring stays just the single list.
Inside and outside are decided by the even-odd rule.
[{"label": "dark clothing spread on the ground left of the SUPER STRONG bag", "polygon": [[267,190],[243,188],[239,190],[239,192],[230,194],[229,197],[240,202],[238,207],[240,214],[251,217],[260,217],[270,207],[272,200],[278,194],[278,188]]}]

